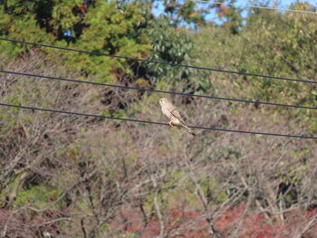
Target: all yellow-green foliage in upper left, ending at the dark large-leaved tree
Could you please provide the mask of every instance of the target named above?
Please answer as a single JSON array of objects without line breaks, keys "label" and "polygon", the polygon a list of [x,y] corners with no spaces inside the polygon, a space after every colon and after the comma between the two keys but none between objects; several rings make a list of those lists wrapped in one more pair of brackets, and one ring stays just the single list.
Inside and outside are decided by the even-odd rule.
[{"label": "all yellow-green foliage in upper left, ending at the dark large-leaved tree", "polygon": [[[123,12],[113,2],[101,0],[95,1],[89,8],[84,6],[81,0],[41,3],[9,1],[0,8],[0,13],[4,15],[0,21],[0,34],[17,40],[55,43],[63,47],[72,43],[74,48],[128,57],[142,58],[149,53],[149,40],[141,31],[146,25],[145,19],[137,5],[127,4]],[[40,7],[45,11],[41,11]],[[71,36],[64,34],[68,31],[72,33]],[[7,45],[2,42],[0,48],[5,49]],[[33,48],[21,44],[15,47],[15,55]],[[56,50],[43,48],[43,51],[51,59],[60,60],[56,57]],[[64,57],[65,63],[73,71],[82,71],[84,76],[94,75],[98,82],[113,81],[116,71],[132,73],[127,67],[130,62],[125,60],[73,52],[64,52]]]}]

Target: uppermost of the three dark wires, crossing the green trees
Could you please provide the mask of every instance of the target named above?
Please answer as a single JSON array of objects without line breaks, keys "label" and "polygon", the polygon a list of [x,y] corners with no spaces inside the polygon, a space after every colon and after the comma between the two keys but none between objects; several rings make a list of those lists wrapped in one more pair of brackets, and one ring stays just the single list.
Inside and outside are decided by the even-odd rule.
[{"label": "uppermost of the three dark wires, crossing the green trees", "polygon": [[41,46],[41,47],[46,47],[46,48],[58,49],[58,50],[62,50],[62,51],[82,52],[82,53],[88,53],[88,54],[97,55],[97,56],[107,56],[107,57],[117,58],[117,59],[157,63],[157,64],[163,64],[163,65],[169,65],[169,66],[178,66],[178,67],[184,67],[184,68],[190,68],[190,69],[196,69],[196,70],[202,70],[202,71],[218,71],[218,72],[224,72],[224,73],[232,73],[232,74],[245,75],[245,76],[254,76],[254,77],[260,77],[260,78],[265,78],[265,79],[280,80],[280,81],[299,81],[299,82],[315,83],[315,84],[317,83],[317,81],[308,81],[308,80],[292,79],[292,78],[286,78],[286,77],[277,77],[277,76],[264,75],[264,74],[251,73],[251,72],[227,71],[227,70],[207,68],[207,67],[201,67],[201,66],[195,66],[195,65],[179,64],[179,63],[174,63],[174,62],[158,62],[158,61],[144,60],[144,59],[139,59],[136,57],[128,57],[128,56],[115,55],[115,54],[103,53],[103,52],[90,52],[90,51],[85,51],[85,50],[76,50],[76,49],[62,47],[62,46],[54,46],[54,45],[43,44],[43,43],[30,43],[30,42],[19,41],[19,40],[14,40],[14,39],[7,39],[7,38],[3,38],[3,37],[0,37],[0,41],[7,41],[7,42],[13,42],[13,43],[24,43],[24,44],[34,45],[34,46]]}]

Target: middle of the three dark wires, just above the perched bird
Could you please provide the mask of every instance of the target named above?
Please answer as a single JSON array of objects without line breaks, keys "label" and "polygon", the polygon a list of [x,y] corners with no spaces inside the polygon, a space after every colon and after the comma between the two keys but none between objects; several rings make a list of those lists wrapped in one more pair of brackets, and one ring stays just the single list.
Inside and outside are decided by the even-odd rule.
[{"label": "middle of the three dark wires, just above the perched bird", "polygon": [[229,101],[238,101],[238,102],[254,103],[254,104],[264,104],[264,105],[269,105],[269,106],[287,107],[287,108],[295,108],[295,109],[317,109],[317,107],[309,107],[309,106],[293,105],[293,104],[283,104],[283,103],[260,101],[260,100],[232,99],[232,98],[192,94],[192,93],[179,92],[179,91],[142,89],[142,88],[138,88],[138,87],[124,86],[124,85],[117,85],[117,84],[110,84],[110,83],[103,83],[103,82],[78,81],[78,80],[58,78],[58,77],[53,77],[53,76],[44,76],[44,75],[38,75],[38,74],[32,74],[32,73],[26,73],[26,72],[18,72],[18,71],[0,70],[0,72],[15,74],[15,75],[23,75],[23,76],[34,77],[34,78],[43,78],[43,79],[48,79],[48,80],[53,80],[53,81],[71,81],[71,82],[77,82],[77,83],[107,86],[107,87],[111,87],[111,88],[120,88],[120,89],[126,89],[126,90],[151,91],[151,92],[182,95],[182,96],[186,96],[186,97],[197,97],[197,98],[205,98],[205,99],[213,99],[213,100],[229,100]]}]

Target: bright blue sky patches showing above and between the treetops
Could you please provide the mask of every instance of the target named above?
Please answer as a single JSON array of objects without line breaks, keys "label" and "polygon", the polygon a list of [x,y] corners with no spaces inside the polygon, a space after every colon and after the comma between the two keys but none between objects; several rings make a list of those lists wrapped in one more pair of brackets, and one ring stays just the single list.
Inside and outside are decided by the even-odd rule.
[{"label": "bright blue sky patches showing above and between the treetops", "polygon": [[[212,3],[212,2],[216,2],[216,1],[215,0],[209,0],[209,3]],[[251,1],[248,1],[248,0],[237,0],[235,2],[235,5],[236,6],[238,6],[238,5],[252,5],[252,4],[250,4],[250,2]],[[288,8],[289,5],[298,2],[298,0],[279,0],[279,1],[275,1],[275,2],[280,2],[280,5],[278,5],[278,6],[270,5],[270,6],[279,7],[279,8]],[[311,4],[311,5],[317,6],[317,0],[303,0],[303,2],[307,2],[307,3]],[[203,5],[205,5],[205,4],[203,4]],[[268,11],[271,11],[271,10],[268,10]],[[159,14],[162,14],[162,13],[164,13],[163,5],[159,5],[158,8],[153,9],[153,14],[155,14],[156,16],[159,16]],[[246,14],[246,12],[244,14]],[[244,14],[243,14],[243,16],[245,17]],[[212,20],[215,17],[216,17],[216,13],[212,12],[211,14],[207,15],[206,19],[207,20]]]}]

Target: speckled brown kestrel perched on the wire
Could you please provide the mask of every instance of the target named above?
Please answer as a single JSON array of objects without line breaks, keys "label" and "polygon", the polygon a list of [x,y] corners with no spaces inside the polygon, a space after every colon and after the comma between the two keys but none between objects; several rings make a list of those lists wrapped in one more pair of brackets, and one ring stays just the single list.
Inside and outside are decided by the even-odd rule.
[{"label": "speckled brown kestrel perched on the wire", "polygon": [[169,126],[171,128],[173,126],[183,127],[183,128],[186,128],[190,134],[192,134],[193,136],[196,136],[194,131],[192,131],[191,129],[187,127],[184,120],[180,116],[178,109],[175,108],[173,103],[171,103],[168,99],[163,98],[159,100],[159,105],[161,106],[163,114],[167,116],[168,119],[170,119]]}]

